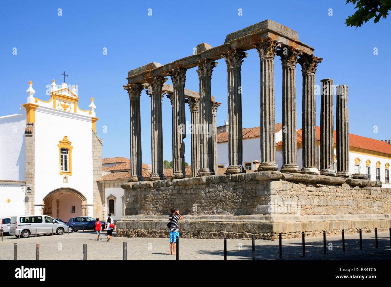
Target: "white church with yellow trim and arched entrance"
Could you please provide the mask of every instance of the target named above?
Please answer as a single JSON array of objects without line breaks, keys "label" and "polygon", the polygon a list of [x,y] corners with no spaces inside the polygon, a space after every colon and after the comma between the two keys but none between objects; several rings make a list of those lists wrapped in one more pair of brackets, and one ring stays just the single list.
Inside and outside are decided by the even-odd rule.
[{"label": "white church with yellow trim and arched entrance", "polygon": [[50,98],[42,93],[41,100],[30,81],[19,113],[0,117],[0,216],[103,217],[97,186],[102,140],[95,132],[93,98],[81,110],[75,86],[54,80],[51,86]]}]

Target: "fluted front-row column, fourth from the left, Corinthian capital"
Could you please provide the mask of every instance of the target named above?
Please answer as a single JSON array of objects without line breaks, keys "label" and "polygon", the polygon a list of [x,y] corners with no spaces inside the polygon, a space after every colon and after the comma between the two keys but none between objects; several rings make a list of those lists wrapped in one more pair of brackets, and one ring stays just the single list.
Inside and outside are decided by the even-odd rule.
[{"label": "fluted front-row column, fourth from the left, Corinthian capital", "polygon": [[212,123],[212,92],[210,80],[212,79],[213,68],[217,62],[202,59],[198,61],[199,78],[199,123],[200,131],[200,169],[197,176],[215,175],[213,169],[213,123]]}]

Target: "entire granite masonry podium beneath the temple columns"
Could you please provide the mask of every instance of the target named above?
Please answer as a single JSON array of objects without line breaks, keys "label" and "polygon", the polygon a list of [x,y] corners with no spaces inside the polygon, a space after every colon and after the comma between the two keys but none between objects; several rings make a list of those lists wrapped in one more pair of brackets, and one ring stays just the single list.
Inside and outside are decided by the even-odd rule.
[{"label": "entire granite masonry podium beneath the temple columns", "polygon": [[261,171],[121,186],[126,215],[118,236],[167,237],[171,207],[185,217],[179,228],[187,238],[276,239],[391,224],[391,189],[369,180]]}]

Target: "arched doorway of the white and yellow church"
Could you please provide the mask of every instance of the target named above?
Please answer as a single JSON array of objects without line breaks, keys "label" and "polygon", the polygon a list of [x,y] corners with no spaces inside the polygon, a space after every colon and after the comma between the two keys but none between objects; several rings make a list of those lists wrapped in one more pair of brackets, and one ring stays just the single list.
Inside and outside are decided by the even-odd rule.
[{"label": "arched doorway of the white and yellow church", "polygon": [[43,214],[67,222],[76,216],[87,216],[87,198],[72,188],[58,188],[48,193],[43,199]]}]

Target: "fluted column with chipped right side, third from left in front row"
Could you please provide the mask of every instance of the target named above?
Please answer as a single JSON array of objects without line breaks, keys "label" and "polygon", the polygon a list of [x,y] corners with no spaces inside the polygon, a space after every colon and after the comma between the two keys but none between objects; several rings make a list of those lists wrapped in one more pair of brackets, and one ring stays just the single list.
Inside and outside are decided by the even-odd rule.
[{"label": "fluted column with chipped right side, third from left in front row", "polygon": [[174,93],[172,94],[172,178],[185,178],[185,81],[186,69],[175,68],[167,71],[172,79]]}]

